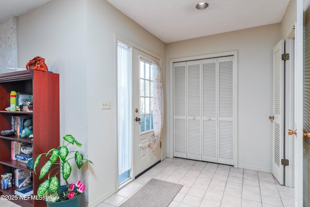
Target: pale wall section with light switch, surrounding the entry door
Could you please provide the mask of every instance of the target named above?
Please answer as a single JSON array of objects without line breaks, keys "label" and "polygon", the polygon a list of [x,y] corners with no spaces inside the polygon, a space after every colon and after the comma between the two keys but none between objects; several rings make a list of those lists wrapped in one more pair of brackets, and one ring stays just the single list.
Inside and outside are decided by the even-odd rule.
[{"label": "pale wall section with light switch, surrounding the entry door", "polygon": [[[120,35],[165,59],[165,44],[142,29],[105,0],[87,1],[88,142],[93,158],[90,204],[114,192],[116,176],[117,70],[114,35]],[[165,72],[165,65],[163,67]],[[100,110],[100,100],[111,100],[111,110]],[[99,131],[98,131],[99,130]],[[166,133],[166,132],[165,132]],[[162,137],[165,140],[165,137]],[[166,149],[163,149],[166,152]],[[99,156],[98,156],[98,152]],[[165,153],[166,154],[166,153]],[[104,159],[102,159],[104,158]],[[98,185],[100,183],[101,185]],[[103,190],[103,191],[102,191]]]}]

